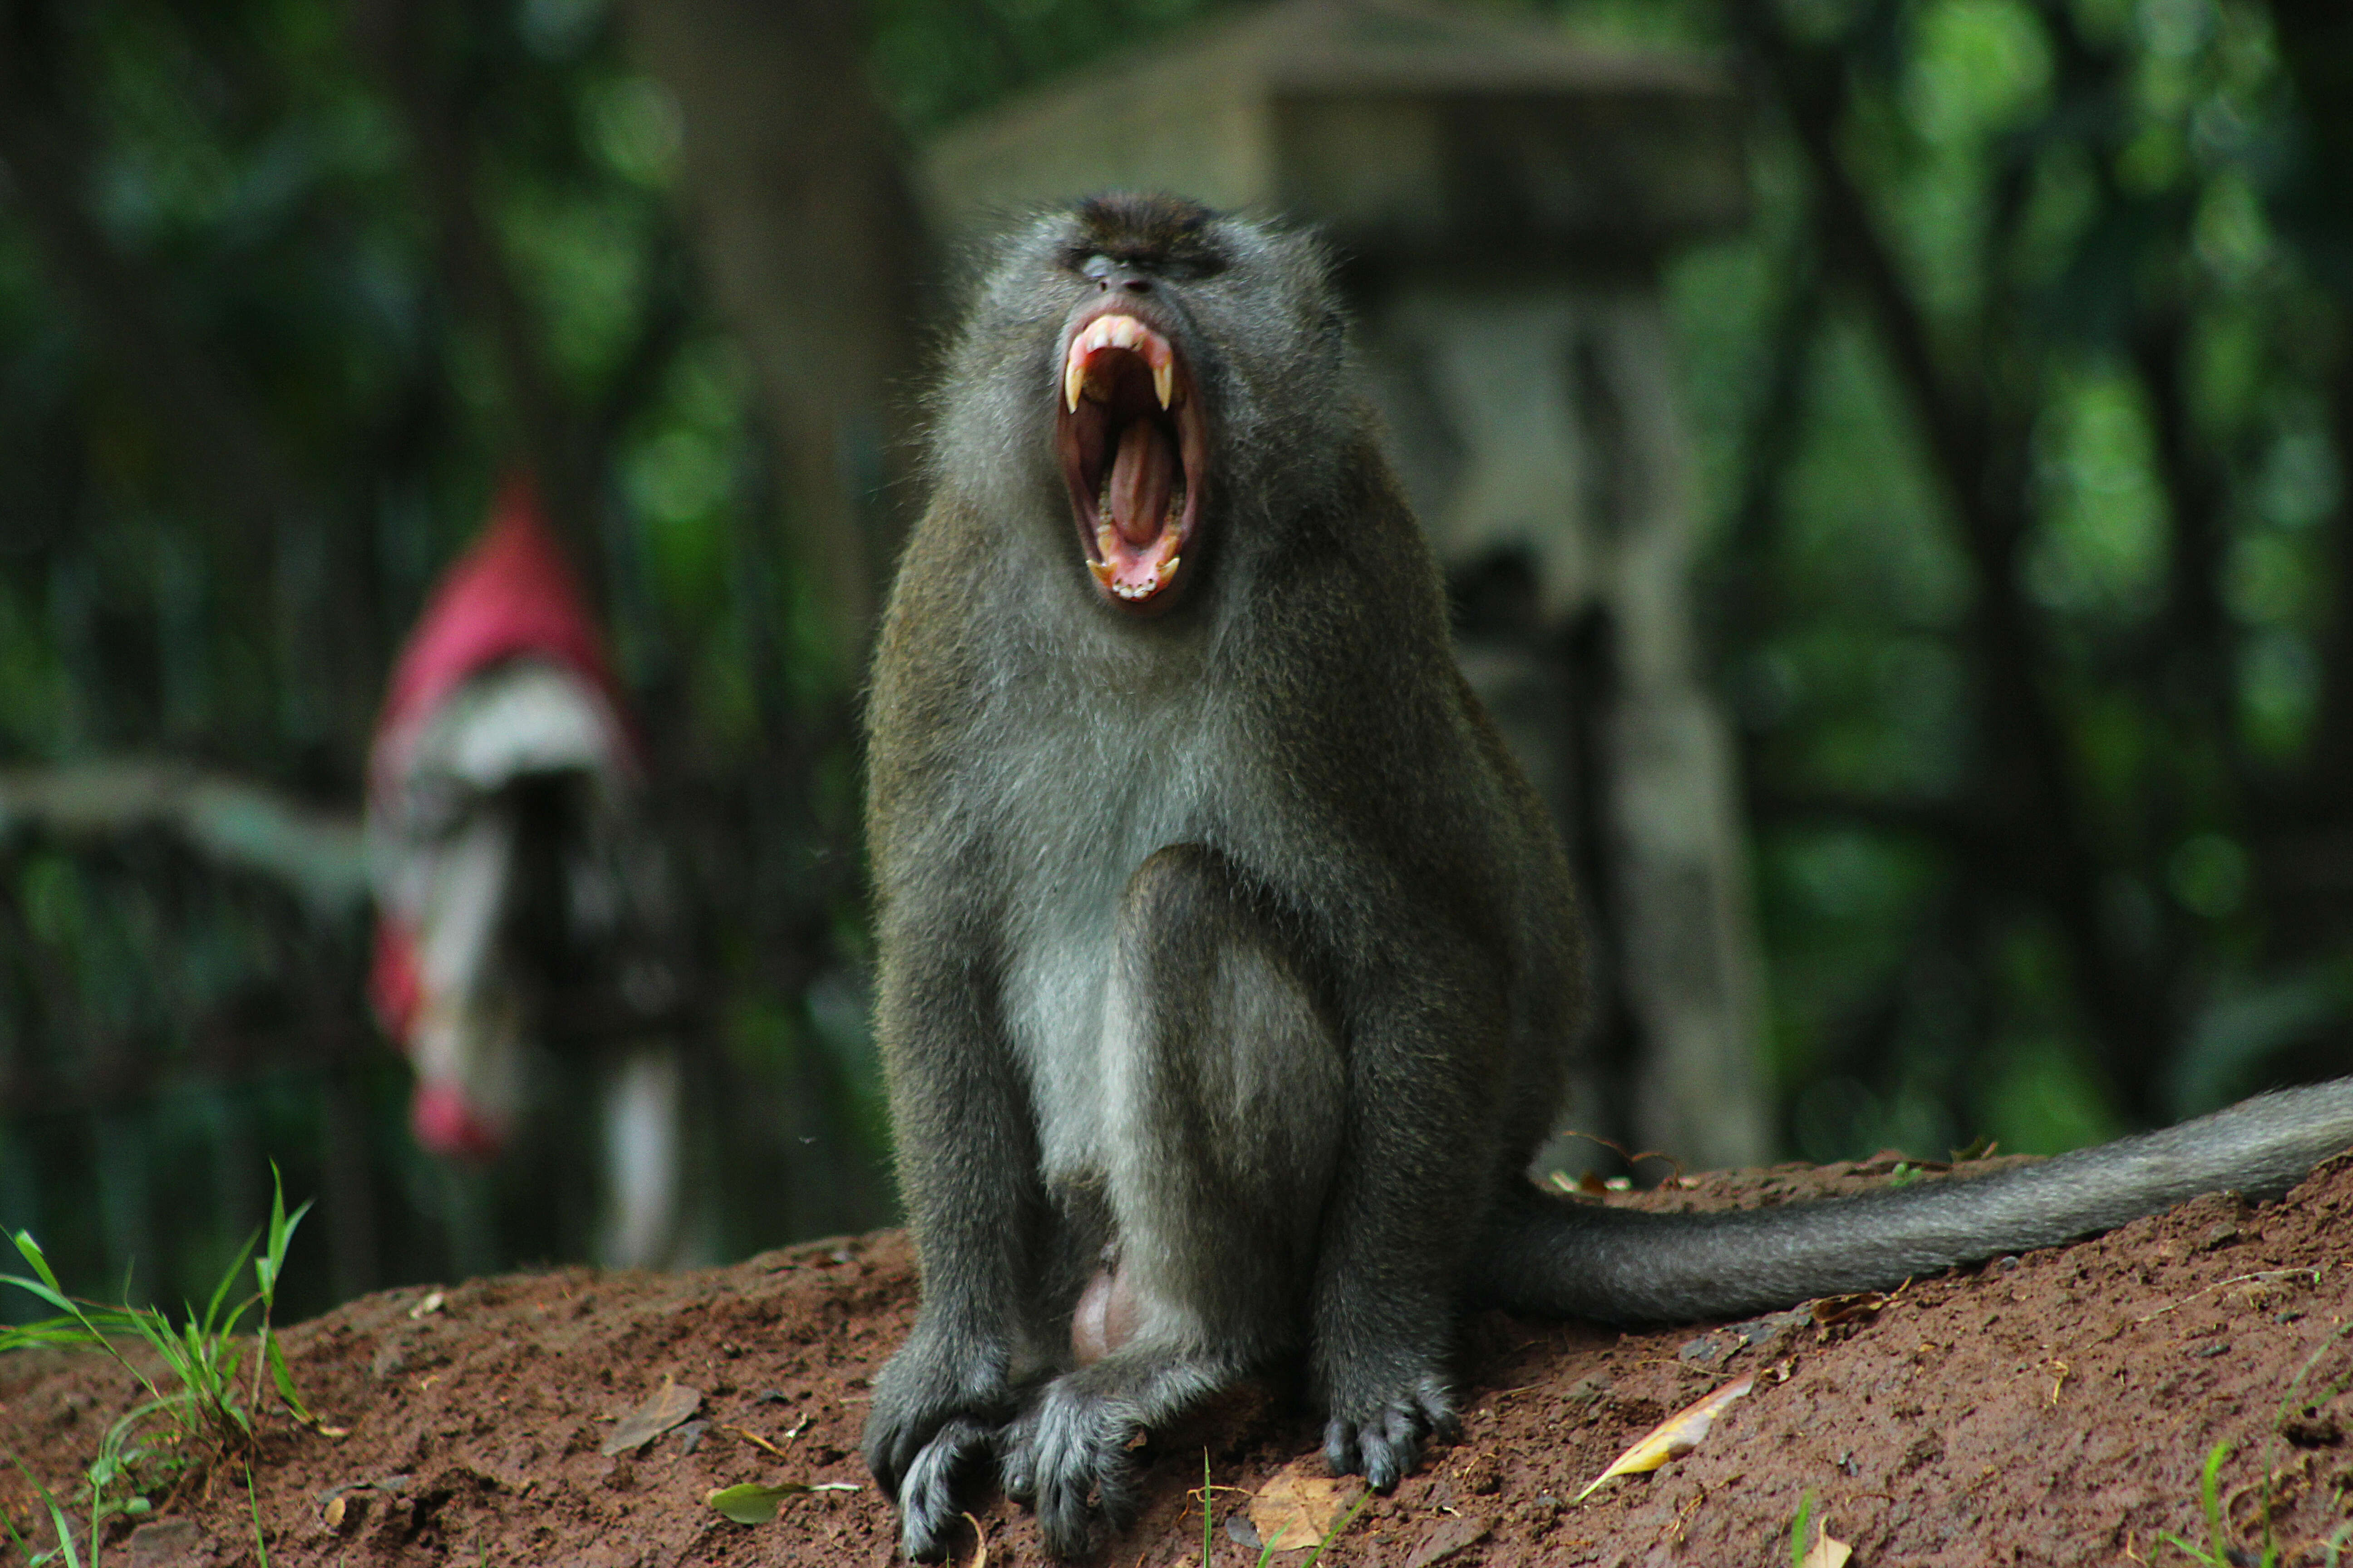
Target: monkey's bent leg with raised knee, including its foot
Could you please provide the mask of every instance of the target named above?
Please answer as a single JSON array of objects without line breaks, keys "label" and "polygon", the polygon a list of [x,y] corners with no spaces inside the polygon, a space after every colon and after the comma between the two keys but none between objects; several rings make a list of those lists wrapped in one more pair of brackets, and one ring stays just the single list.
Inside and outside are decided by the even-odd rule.
[{"label": "monkey's bent leg with raised knee, including its foot", "polygon": [[1104,1178],[1134,1331],[1047,1385],[1002,1458],[1059,1556],[1134,1514],[1139,1432],[1299,1340],[1346,1100],[1306,973],[1219,853],[1169,846],[1129,879]]}]

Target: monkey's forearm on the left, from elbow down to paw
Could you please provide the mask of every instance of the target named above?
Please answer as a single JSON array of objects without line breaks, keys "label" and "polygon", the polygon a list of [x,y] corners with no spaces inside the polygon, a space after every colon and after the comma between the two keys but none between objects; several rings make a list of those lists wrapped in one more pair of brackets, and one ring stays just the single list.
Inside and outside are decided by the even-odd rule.
[{"label": "monkey's forearm on the left, from elbow down to paw", "polygon": [[[882,945],[878,1034],[922,1309],[873,1382],[866,1465],[899,1502],[908,1556],[939,1556],[958,1486],[1014,1413],[1016,1359],[1049,1225],[1028,1093],[972,926],[901,903]],[[976,924],[976,922],[974,922]],[[965,938],[965,940],[958,940]]]}]

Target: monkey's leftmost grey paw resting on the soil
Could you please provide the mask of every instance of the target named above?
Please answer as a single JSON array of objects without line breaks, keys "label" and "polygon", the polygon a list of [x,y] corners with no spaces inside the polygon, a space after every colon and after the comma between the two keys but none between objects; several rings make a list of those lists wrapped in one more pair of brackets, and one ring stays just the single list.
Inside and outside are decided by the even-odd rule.
[{"label": "monkey's leftmost grey paw resting on the soil", "polygon": [[873,1385],[866,1469],[899,1505],[899,1542],[913,1559],[948,1552],[955,1490],[986,1462],[1014,1396],[1005,1359],[958,1347],[922,1321]]}]

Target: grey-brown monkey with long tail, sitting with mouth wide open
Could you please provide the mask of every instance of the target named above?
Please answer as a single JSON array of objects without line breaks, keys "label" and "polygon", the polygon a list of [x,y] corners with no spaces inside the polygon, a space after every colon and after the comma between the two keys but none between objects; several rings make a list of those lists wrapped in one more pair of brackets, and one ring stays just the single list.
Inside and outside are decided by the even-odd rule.
[{"label": "grey-brown monkey with long tail, sitting with mouth wide open", "polygon": [[1525,1166],[1579,1018],[1553,827],[1457,675],[1313,237],[1040,219],[936,393],[871,708],[880,1041],[922,1309],[866,1460],[934,1556],[1045,1542],[1299,1359],[1334,1472],[1449,1434],[1466,1305],[1697,1319],[1892,1286],[2353,1145],[2353,1079],[1849,1201],[1647,1215]]}]

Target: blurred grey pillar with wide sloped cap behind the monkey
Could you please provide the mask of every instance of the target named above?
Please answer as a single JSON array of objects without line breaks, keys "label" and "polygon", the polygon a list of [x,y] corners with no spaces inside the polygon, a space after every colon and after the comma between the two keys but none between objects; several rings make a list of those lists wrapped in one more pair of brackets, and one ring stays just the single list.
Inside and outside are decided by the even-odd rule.
[{"label": "blurred grey pillar with wide sloped cap behind the monkey", "polygon": [[1699,668],[1659,299],[1678,244],[1746,219],[1725,75],[1468,7],[1287,0],[958,127],[922,174],[946,233],[1104,188],[1329,233],[1464,668],[1579,860],[1593,1067],[1565,1126],[1767,1159],[1746,846]]}]

